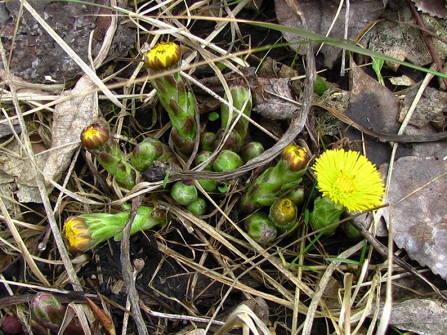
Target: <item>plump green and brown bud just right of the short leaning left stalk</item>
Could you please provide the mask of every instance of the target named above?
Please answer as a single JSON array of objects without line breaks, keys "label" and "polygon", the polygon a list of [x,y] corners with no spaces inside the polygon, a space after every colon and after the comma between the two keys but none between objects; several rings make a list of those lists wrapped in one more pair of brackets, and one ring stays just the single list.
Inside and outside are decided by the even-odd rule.
[{"label": "plump green and brown bud just right of the short leaning left stalk", "polygon": [[145,172],[154,160],[178,164],[171,148],[158,139],[147,137],[138,143],[130,159],[132,165],[140,172]]}]

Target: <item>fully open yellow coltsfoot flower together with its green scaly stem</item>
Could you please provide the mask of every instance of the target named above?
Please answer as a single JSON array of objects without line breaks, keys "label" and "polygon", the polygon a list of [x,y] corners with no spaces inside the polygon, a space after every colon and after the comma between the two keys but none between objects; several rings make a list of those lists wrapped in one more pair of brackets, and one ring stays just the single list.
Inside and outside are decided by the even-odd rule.
[{"label": "fully open yellow coltsfoot flower together with its green scaly stem", "polygon": [[[375,165],[357,151],[326,150],[312,166],[317,189],[322,193],[314,201],[309,222],[314,230],[339,220],[340,214],[366,210],[382,203],[385,189]],[[336,226],[324,230],[332,234]]]}]

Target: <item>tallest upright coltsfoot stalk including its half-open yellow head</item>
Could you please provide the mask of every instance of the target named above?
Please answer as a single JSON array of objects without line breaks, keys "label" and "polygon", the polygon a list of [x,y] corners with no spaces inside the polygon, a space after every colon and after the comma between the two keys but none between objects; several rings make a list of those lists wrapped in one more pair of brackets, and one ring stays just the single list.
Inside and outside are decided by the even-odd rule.
[{"label": "tallest upright coltsfoot stalk including its half-open yellow head", "polygon": [[172,123],[172,141],[178,153],[188,157],[194,148],[197,134],[194,97],[187,92],[179,72],[153,77],[173,67],[179,60],[180,48],[175,43],[160,43],[146,55],[150,83],[157,90],[158,99]]}]

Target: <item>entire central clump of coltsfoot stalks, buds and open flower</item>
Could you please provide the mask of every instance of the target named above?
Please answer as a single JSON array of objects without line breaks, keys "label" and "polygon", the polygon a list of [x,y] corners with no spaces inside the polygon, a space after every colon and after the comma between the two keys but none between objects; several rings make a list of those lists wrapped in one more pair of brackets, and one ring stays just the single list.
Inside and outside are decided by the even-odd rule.
[{"label": "entire central clump of coltsfoot stalks, buds and open flower", "polygon": [[[218,129],[216,133],[206,129],[208,124],[197,123],[200,116],[195,98],[178,69],[180,58],[180,48],[175,43],[160,43],[145,56],[149,81],[172,126],[170,146],[148,137],[126,156],[109,130],[97,124],[82,132],[81,142],[114,176],[116,183],[128,190],[135,186],[138,173],[149,182],[163,179],[169,182],[165,178],[169,177],[169,167],[180,170],[185,165],[190,168],[188,164],[195,164],[193,169],[208,173],[206,177],[209,179],[177,179],[168,184],[168,195],[173,205],[183,206],[200,216],[207,212],[207,197],[219,199],[226,192],[228,181],[222,182],[216,176],[256,159],[264,152],[264,147],[259,142],[247,143],[252,96],[246,85],[229,85],[224,95],[227,103],[221,104],[220,108],[221,124],[214,126]],[[212,114],[210,128],[219,118],[218,113]],[[200,138],[198,134],[201,134]],[[305,147],[290,143],[271,167],[260,171],[244,189],[236,191],[241,191],[237,211],[243,215],[245,231],[256,242],[271,243],[278,234],[290,233],[303,222],[298,207],[304,200],[300,183],[307,171],[308,160]],[[326,227],[338,221],[345,209],[365,210],[381,203],[384,188],[380,176],[375,166],[357,152],[326,150],[316,159],[312,170],[322,193],[315,199],[309,215],[314,230],[332,234],[336,227]],[[128,217],[129,210],[70,217],[64,226],[66,242],[72,250],[86,251],[109,238],[119,240]],[[166,217],[164,211],[142,206],[131,233],[165,223]]]}]

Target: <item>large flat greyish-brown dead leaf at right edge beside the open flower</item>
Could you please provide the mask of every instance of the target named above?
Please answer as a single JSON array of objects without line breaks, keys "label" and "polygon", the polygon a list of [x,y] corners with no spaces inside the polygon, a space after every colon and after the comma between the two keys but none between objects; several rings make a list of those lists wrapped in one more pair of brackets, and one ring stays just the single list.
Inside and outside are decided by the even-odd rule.
[{"label": "large flat greyish-brown dead leaf at right edge beside the open flower", "polygon": [[[383,164],[380,170],[384,172],[387,168]],[[444,279],[447,279],[446,172],[443,160],[403,157],[394,163],[388,190],[394,242],[411,259]],[[388,207],[384,208],[383,217],[389,227]]]}]

